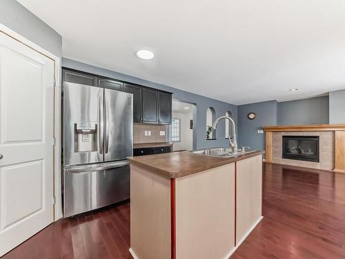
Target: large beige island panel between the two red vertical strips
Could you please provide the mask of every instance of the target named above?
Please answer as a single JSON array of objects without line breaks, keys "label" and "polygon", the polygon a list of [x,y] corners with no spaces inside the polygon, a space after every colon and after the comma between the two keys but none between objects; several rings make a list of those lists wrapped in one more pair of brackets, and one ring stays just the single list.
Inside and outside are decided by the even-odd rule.
[{"label": "large beige island panel between the two red vertical strips", "polygon": [[176,258],[228,258],[235,247],[235,163],[175,181]]}]

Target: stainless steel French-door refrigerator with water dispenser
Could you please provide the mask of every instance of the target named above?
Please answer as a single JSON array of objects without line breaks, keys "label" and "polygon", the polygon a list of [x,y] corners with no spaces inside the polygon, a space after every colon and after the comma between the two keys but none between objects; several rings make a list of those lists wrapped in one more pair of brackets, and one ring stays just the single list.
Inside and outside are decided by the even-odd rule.
[{"label": "stainless steel French-door refrigerator with water dispenser", "polygon": [[63,83],[65,217],[130,195],[132,94]]}]

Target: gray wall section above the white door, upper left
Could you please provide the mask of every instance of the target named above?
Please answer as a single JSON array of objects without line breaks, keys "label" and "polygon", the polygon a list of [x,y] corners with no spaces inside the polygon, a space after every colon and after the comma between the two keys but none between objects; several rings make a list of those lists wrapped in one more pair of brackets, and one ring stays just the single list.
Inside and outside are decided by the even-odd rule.
[{"label": "gray wall section above the white door, upper left", "polygon": [[61,57],[61,36],[17,1],[0,0],[0,23]]}]

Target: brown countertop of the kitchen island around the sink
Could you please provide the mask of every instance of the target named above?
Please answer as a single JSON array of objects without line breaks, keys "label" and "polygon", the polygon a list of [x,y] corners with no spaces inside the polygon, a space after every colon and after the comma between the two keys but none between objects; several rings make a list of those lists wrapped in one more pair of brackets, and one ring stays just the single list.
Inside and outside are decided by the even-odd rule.
[{"label": "brown countertop of the kitchen island around the sink", "polygon": [[143,166],[150,171],[154,171],[155,173],[164,175],[168,178],[181,178],[262,154],[264,154],[264,151],[253,151],[244,155],[224,158],[184,151],[159,155],[128,157],[128,160],[131,164]]}]

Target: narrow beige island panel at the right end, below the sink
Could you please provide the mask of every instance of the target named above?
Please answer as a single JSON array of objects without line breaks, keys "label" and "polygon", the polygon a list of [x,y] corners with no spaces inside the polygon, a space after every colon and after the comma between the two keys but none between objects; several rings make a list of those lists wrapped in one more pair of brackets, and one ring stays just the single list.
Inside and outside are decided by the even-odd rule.
[{"label": "narrow beige island panel at the right end, below the sink", "polygon": [[262,219],[262,155],[236,162],[236,244]]}]

